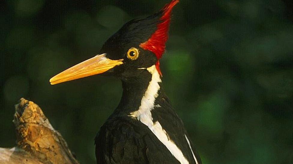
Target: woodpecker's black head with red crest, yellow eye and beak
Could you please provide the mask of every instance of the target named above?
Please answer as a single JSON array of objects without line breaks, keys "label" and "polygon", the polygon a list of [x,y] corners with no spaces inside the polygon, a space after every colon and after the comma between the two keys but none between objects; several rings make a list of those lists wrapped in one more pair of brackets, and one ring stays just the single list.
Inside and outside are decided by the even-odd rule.
[{"label": "woodpecker's black head with red crest, yellow eye and beak", "polygon": [[50,83],[54,85],[96,74],[129,79],[153,65],[162,76],[159,59],[168,39],[171,10],[178,2],[172,0],[152,16],[127,22],[104,43],[99,55],[57,74]]}]

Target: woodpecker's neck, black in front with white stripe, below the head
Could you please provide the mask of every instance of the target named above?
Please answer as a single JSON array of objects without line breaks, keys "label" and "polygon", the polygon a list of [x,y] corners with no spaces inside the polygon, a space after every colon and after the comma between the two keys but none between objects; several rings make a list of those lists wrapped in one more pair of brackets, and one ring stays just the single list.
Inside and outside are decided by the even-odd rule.
[{"label": "woodpecker's neck, black in front with white stripe, below the head", "polygon": [[152,110],[159,93],[162,94],[161,76],[156,66],[143,69],[140,77],[122,80],[122,98],[116,109],[119,114],[129,114],[140,108]]}]

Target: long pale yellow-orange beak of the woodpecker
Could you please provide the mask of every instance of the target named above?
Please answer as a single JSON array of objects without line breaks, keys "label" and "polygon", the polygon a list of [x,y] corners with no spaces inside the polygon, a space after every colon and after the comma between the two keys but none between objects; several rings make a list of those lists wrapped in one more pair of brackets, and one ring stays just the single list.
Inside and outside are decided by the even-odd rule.
[{"label": "long pale yellow-orange beak of the woodpecker", "polygon": [[74,65],[71,68],[59,73],[50,79],[51,85],[67,82],[75,79],[80,79],[87,76],[92,76],[104,73],[107,70],[114,68],[117,65],[123,64],[123,59],[111,60],[106,57],[106,53],[97,55],[91,59]]}]

